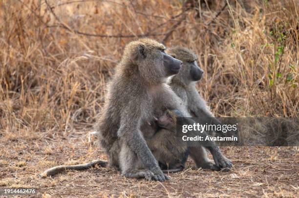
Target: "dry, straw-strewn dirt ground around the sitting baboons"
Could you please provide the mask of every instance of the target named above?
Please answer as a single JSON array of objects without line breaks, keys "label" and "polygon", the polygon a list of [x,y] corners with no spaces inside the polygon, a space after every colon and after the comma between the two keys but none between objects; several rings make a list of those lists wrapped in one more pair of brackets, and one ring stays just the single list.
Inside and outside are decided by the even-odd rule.
[{"label": "dry, straw-strewn dirt ground around the sitting baboons", "polygon": [[[197,169],[189,160],[166,182],[126,179],[112,168],[66,171],[40,178],[58,164],[107,160],[88,131],[0,130],[0,188],[37,188],[30,197],[299,197],[297,147],[222,147],[233,170]],[[1,197],[1,196],[0,196]],[[3,196],[2,196],[3,197]]]}]

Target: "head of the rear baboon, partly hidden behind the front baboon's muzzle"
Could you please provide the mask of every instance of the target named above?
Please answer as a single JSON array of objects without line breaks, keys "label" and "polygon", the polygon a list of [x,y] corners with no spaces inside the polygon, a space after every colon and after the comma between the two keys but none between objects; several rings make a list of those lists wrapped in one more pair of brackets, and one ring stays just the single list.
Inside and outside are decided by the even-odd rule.
[{"label": "head of the rear baboon, partly hidden behind the front baboon's muzzle", "polygon": [[197,56],[192,51],[184,47],[174,47],[168,49],[167,53],[183,61],[182,69],[171,80],[173,83],[189,85],[201,79],[203,71],[198,67]]}]

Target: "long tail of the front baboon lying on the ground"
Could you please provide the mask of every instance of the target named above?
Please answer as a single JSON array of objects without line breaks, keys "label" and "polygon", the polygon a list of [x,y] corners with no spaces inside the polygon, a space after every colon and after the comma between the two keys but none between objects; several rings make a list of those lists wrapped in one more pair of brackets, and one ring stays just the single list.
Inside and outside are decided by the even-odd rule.
[{"label": "long tail of the front baboon lying on the ground", "polygon": [[52,168],[49,168],[45,170],[42,174],[40,174],[41,177],[45,178],[50,175],[55,175],[57,173],[61,173],[65,170],[85,170],[91,167],[94,167],[95,165],[101,166],[101,167],[107,167],[107,162],[97,160],[93,162],[88,163],[81,163],[76,165],[61,165],[61,166],[54,166]]}]

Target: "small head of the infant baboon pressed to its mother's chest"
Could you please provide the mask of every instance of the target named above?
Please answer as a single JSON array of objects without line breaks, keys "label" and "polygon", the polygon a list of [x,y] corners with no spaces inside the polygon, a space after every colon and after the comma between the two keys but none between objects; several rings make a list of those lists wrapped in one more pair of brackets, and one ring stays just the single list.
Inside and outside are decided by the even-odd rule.
[{"label": "small head of the infant baboon pressed to its mother's chest", "polygon": [[159,117],[158,125],[162,128],[176,131],[176,118],[183,117],[182,113],[177,109],[167,109],[164,114]]}]

